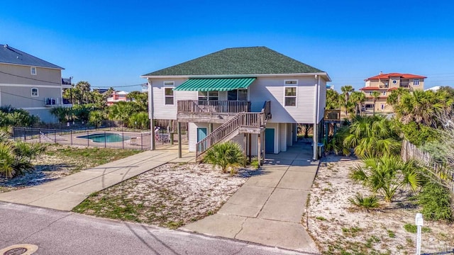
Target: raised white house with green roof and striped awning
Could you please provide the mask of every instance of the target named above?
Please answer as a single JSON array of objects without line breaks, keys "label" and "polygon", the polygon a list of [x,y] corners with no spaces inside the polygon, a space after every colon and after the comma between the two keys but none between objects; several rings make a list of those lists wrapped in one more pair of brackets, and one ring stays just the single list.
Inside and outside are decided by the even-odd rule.
[{"label": "raised white house with green roof and striped awning", "polygon": [[150,118],[187,122],[197,157],[226,140],[259,159],[285,152],[298,123],[314,126],[316,143],[323,134],[328,74],[267,47],[228,48],[142,77]]}]

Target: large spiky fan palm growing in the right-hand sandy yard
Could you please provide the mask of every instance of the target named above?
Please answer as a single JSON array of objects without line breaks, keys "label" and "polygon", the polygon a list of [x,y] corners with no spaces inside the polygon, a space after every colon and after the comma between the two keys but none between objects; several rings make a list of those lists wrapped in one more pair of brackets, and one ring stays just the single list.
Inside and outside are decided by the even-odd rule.
[{"label": "large spiky fan palm growing in the right-hand sandy yard", "polygon": [[416,191],[421,187],[422,176],[417,171],[416,162],[403,162],[396,155],[384,155],[378,158],[367,157],[350,174],[350,178],[362,182],[372,192],[380,193],[389,203],[401,188]]}]

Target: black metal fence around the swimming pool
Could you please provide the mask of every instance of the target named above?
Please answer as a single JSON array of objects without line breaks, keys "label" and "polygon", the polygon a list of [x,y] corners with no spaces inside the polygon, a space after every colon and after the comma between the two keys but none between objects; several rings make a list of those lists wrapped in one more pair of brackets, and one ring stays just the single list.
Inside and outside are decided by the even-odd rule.
[{"label": "black metal fence around the swimming pool", "polygon": [[[157,134],[157,144],[170,143],[170,135]],[[150,149],[151,132],[111,130],[57,130],[43,128],[13,128],[13,139],[26,142],[121,149]]]}]

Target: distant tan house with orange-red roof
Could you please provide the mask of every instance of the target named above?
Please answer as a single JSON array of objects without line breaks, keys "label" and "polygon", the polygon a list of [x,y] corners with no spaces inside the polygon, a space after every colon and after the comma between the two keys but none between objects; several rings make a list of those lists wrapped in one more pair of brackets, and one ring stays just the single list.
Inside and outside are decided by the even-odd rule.
[{"label": "distant tan house with orange-red roof", "polygon": [[424,79],[426,78],[416,74],[383,74],[380,72],[375,77],[365,79],[365,87],[360,89],[365,94],[367,100],[365,102],[365,110],[373,110],[374,102],[372,92],[378,91],[380,92],[380,98],[375,102],[375,111],[391,113],[393,111],[392,106],[386,103],[389,94],[398,88],[408,89],[409,91],[423,90]]}]

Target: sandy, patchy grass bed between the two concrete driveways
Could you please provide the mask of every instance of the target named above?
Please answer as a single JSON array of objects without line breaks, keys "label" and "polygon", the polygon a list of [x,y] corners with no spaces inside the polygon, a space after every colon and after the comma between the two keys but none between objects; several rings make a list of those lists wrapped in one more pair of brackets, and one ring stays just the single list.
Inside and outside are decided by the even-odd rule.
[{"label": "sandy, patchy grass bed between the two concrete driveways", "polygon": [[95,193],[74,212],[177,228],[214,214],[251,171],[229,176],[209,164],[165,164]]}]

